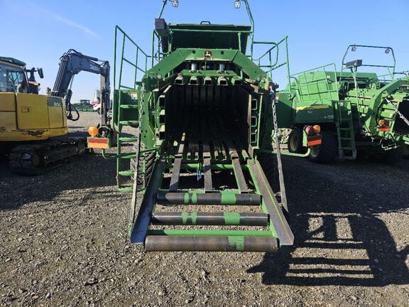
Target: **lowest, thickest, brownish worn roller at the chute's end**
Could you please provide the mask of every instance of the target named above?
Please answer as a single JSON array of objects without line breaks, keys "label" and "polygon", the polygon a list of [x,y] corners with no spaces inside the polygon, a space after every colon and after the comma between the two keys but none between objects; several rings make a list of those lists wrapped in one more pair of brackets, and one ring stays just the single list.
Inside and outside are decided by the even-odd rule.
[{"label": "lowest, thickest, brownish worn roller at the chute's end", "polygon": [[277,252],[275,237],[256,236],[182,236],[148,235],[148,252]]}]

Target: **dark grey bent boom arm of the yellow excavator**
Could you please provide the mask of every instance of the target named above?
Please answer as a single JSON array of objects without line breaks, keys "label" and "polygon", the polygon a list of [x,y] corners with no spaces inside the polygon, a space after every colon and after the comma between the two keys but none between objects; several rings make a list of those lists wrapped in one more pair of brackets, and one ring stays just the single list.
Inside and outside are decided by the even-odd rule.
[{"label": "dark grey bent boom arm of the yellow excavator", "polygon": [[[77,73],[86,71],[101,75],[101,125],[109,122],[109,62],[83,55],[77,50],[70,49],[60,58],[60,68],[53,87],[53,96],[65,97],[65,105],[67,110],[72,109],[70,89],[72,80]],[[71,117],[71,118],[70,118]],[[72,119],[72,115],[68,114],[68,119]]]}]

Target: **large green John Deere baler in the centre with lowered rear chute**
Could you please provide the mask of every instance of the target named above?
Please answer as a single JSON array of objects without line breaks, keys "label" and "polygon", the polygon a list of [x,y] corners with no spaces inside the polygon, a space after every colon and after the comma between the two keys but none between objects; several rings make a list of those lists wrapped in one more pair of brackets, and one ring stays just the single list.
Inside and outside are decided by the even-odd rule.
[{"label": "large green John Deere baler in the centre with lowered rear chute", "polygon": [[[119,190],[132,193],[131,242],[148,251],[275,252],[292,245],[283,174],[279,203],[261,166],[273,167],[266,158],[278,87],[271,75],[288,70],[288,56],[272,59],[278,50],[288,55],[287,38],[254,41],[247,0],[234,4],[245,4],[251,26],[166,23],[167,2],[151,53],[116,26],[112,119],[90,129],[88,140],[116,158]],[[255,45],[266,46],[260,58]],[[113,144],[116,154],[108,154]],[[125,151],[130,145],[135,150]]]}]

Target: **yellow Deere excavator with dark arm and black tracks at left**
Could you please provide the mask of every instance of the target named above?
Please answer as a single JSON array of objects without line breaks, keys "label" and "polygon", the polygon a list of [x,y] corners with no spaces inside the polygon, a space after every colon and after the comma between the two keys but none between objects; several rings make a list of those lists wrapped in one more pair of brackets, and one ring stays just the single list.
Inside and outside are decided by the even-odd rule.
[{"label": "yellow Deere excavator with dark arm and black tracks at left", "polygon": [[[15,58],[0,57],[0,154],[9,160],[11,170],[22,175],[37,175],[71,156],[84,154],[85,136],[70,136],[67,119],[80,113],[70,103],[74,76],[80,71],[101,75],[101,122],[108,120],[109,63],[76,50],[60,58],[53,91],[39,95],[43,69],[27,69]],[[73,115],[72,113],[75,112]]]}]

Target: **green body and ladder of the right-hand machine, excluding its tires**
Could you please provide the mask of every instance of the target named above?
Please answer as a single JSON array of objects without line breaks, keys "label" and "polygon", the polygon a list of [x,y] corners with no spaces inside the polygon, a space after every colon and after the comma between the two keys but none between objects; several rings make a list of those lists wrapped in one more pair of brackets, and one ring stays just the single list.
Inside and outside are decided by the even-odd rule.
[{"label": "green body and ladder of the right-hand machine, excluding its tires", "polygon": [[[358,68],[347,67],[347,56],[352,48],[388,50],[391,63],[363,63]],[[359,72],[357,69],[360,67],[385,68],[388,74],[377,76],[373,72]],[[396,79],[396,75],[402,77]],[[394,127],[397,119],[395,109],[408,95],[409,78],[405,72],[396,72],[393,48],[349,45],[340,71],[332,63],[291,75],[291,79],[293,82],[288,92],[296,97],[293,125],[320,124],[325,129],[333,127],[337,132],[340,157],[354,159],[357,149],[385,151],[407,143],[409,134],[397,134]],[[395,107],[386,104],[386,98],[393,100]],[[390,122],[389,131],[379,130],[380,119]],[[359,131],[364,131],[368,137],[364,139]]]}]

